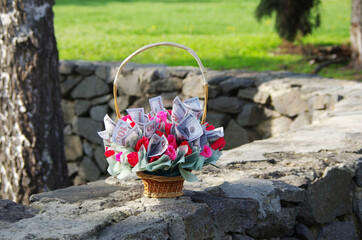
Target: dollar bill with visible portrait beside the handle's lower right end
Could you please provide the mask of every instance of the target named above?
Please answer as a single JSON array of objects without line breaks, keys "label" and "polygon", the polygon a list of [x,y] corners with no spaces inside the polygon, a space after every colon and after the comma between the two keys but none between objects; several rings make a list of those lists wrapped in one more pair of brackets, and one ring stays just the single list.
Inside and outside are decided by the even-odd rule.
[{"label": "dollar bill with visible portrait beside the handle's lower right end", "polygon": [[203,134],[202,127],[196,117],[192,114],[186,115],[177,125],[176,131],[188,141],[192,142]]}]

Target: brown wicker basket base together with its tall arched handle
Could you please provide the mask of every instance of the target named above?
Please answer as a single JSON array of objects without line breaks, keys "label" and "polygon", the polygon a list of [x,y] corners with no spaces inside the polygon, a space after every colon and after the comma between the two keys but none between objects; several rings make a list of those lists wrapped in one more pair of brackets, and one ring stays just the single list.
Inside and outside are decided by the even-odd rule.
[{"label": "brown wicker basket base together with its tall arched handle", "polygon": [[[203,116],[201,120],[201,124],[205,123],[206,120],[206,106],[207,106],[207,99],[208,99],[208,85],[206,81],[206,70],[200,60],[200,58],[197,56],[197,54],[191,49],[184,45],[173,43],[173,42],[160,42],[160,43],[153,43],[146,45],[134,53],[132,53],[130,56],[128,56],[120,65],[118,68],[116,77],[114,79],[113,84],[113,96],[114,96],[114,105],[115,110],[118,119],[121,119],[121,113],[118,108],[117,103],[117,81],[118,78],[121,76],[121,71],[125,67],[125,65],[137,54],[153,47],[157,46],[171,46],[171,47],[177,47],[186,50],[189,52],[196,60],[196,62],[199,65],[199,68],[201,70],[202,75],[202,83],[203,83],[203,92],[204,92],[204,110],[203,110]],[[154,197],[154,198],[172,198],[172,197],[178,197],[183,194],[183,183],[185,179],[182,176],[177,177],[165,177],[165,176],[156,176],[156,175],[150,175],[146,174],[144,172],[137,172],[137,175],[139,178],[143,180],[144,184],[144,196],[145,197]]]}]

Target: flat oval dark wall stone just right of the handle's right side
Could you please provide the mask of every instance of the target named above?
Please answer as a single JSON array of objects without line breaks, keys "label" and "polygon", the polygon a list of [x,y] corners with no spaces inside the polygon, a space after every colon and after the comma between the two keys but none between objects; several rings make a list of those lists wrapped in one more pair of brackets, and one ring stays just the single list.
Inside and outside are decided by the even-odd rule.
[{"label": "flat oval dark wall stone just right of the handle's right side", "polygon": [[220,96],[214,99],[210,99],[208,106],[216,111],[225,113],[239,113],[243,109],[246,103],[235,97]]}]

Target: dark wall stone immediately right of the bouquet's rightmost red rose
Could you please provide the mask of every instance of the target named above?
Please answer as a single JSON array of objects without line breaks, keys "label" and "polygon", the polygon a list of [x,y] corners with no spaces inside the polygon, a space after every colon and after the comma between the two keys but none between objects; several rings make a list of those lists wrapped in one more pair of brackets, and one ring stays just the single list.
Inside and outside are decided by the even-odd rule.
[{"label": "dark wall stone immediately right of the bouquet's rightmost red rose", "polygon": [[239,147],[249,142],[247,131],[240,127],[235,120],[231,120],[225,130],[225,149]]}]

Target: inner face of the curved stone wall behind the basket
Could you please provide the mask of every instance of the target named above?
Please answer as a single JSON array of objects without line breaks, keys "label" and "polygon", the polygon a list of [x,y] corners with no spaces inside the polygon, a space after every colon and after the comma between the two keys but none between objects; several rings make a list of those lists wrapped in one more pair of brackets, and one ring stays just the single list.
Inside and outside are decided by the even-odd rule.
[{"label": "inner face of the curved stone wall behind the basket", "polygon": [[[97,131],[103,117],[113,119],[112,84],[119,63],[61,61],[62,109],[65,122],[65,153],[69,175],[75,185],[107,176],[104,149]],[[119,79],[118,104],[144,107],[148,99],[161,95],[171,109],[175,96],[203,97],[198,68],[129,64]],[[310,88],[288,79],[321,78],[290,72],[209,71],[207,121],[223,126],[226,149],[254,140],[278,136],[316,121],[340,99],[328,86]],[[285,79],[278,84],[274,79]],[[326,80],[323,80],[326,81]]]}]

